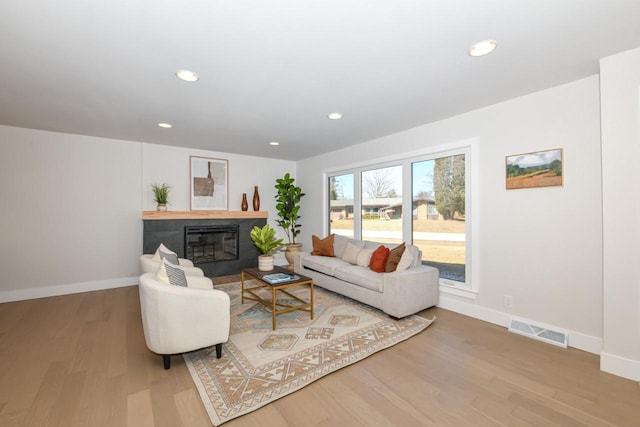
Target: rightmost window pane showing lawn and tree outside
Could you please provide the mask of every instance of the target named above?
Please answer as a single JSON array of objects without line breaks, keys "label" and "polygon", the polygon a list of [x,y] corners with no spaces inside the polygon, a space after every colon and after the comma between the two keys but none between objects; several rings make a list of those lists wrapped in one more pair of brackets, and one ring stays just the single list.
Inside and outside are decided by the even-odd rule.
[{"label": "rightmost window pane showing lawn and tree outside", "polygon": [[465,282],[465,156],[412,164],[413,244],[443,279]]}]

